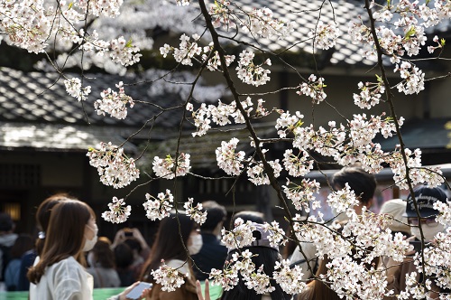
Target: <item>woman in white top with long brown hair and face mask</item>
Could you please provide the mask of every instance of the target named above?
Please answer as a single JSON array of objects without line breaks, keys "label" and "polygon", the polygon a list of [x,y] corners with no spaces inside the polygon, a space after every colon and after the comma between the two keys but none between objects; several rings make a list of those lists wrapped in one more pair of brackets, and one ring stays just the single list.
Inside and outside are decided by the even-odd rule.
[{"label": "woman in white top with long brown hair and face mask", "polygon": [[[51,210],[45,235],[39,262],[28,272],[36,285],[30,289],[30,300],[92,299],[93,278],[85,269],[84,252],[97,242],[94,211],[78,200],[59,202]],[[117,297],[125,299],[126,293]]]}]

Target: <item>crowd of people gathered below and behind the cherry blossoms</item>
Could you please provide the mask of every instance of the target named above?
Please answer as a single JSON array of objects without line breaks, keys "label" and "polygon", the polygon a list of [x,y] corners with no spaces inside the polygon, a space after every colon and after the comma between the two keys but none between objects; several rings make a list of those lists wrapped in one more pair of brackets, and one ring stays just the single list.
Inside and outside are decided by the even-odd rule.
[{"label": "crowd of people gathered below and behind the cherry blossoms", "polygon": [[[373,202],[376,181],[372,174],[358,167],[345,167],[332,178],[335,191],[349,186],[359,203],[357,214],[365,213]],[[405,288],[406,274],[415,269],[412,255],[433,242],[434,236],[445,228],[437,223],[435,202],[446,202],[446,193],[440,188],[419,186],[414,191],[417,207],[412,198],[384,202],[380,213],[393,219],[391,232],[400,232],[415,247],[404,262],[391,258],[374,258],[369,265],[386,270],[388,288],[398,295]],[[41,202],[36,211],[36,224],[40,230],[35,241],[30,235],[14,233],[14,222],[6,213],[0,213],[0,276],[8,291],[29,290],[34,299],[92,299],[93,288],[124,287],[124,291],[111,299],[127,299],[126,295],[139,282],[148,282],[152,288],[144,289],[146,300],[241,300],[241,299],[340,299],[319,278],[327,274],[327,256],[317,257],[314,244],[289,242],[283,249],[270,242],[272,230],[264,230],[264,215],[256,211],[235,213],[228,223],[224,206],[214,201],[203,202],[207,220],[198,225],[184,214],[170,212],[161,220],[158,232],[149,246],[140,230],[118,230],[115,239],[98,237],[96,215],[85,202],[68,194],[57,194]],[[421,218],[418,218],[417,209]],[[254,241],[242,248],[226,248],[221,243],[223,228],[231,228],[238,218],[250,221],[254,228]],[[346,214],[336,214],[330,222],[345,224]],[[419,223],[422,232],[419,232]],[[326,226],[328,224],[325,224]],[[420,237],[424,237],[424,242]],[[287,231],[290,238],[290,230]],[[211,269],[222,269],[236,253],[250,250],[255,266],[262,266],[264,274],[272,274],[282,258],[290,259],[291,266],[301,267],[308,283],[299,295],[287,294],[271,279],[272,292],[257,294],[245,286],[244,280],[231,289],[222,290],[212,298],[208,284]],[[160,267],[174,268],[183,278],[178,289],[168,291],[158,282],[154,271]],[[238,276],[238,279],[242,279]],[[420,275],[419,275],[420,277]],[[420,280],[421,278],[419,278]],[[201,287],[203,282],[205,289]],[[443,292],[431,287],[430,295]],[[387,299],[392,297],[387,297]]]}]

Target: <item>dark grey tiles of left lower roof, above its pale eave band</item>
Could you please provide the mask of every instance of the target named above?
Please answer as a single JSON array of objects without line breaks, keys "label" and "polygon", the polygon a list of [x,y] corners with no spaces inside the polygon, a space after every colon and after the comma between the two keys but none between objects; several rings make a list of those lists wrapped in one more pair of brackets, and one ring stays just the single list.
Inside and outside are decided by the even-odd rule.
[{"label": "dark grey tiles of left lower roof, above its pale eave band", "polygon": [[[70,76],[70,74],[69,74]],[[78,75],[75,75],[79,77]],[[133,108],[128,108],[133,117],[118,120],[115,117],[98,116],[93,103],[100,98],[100,93],[109,87],[115,89],[119,81],[134,82],[135,79],[108,74],[87,74],[84,85],[91,86],[87,101],[78,102],[66,92],[64,80],[52,72],[23,72],[9,68],[0,69],[0,121],[30,122],[46,124],[89,123],[98,126],[142,127],[146,120],[158,114],[161,109],[156,106],[136,102],[150,101],[145,87],[125,87],[126,94],[135,100]],[[96,78],[94,80],[94,78]],[[180,103],[179,98],[166,96],[152,98],[152,103],[169,108]],[[180,110],[181,111],[181,110]],[[86,115],[85,115],[86,114]],[[176,117],[163,114],[156,124],[173,127],[179,124]]]}]

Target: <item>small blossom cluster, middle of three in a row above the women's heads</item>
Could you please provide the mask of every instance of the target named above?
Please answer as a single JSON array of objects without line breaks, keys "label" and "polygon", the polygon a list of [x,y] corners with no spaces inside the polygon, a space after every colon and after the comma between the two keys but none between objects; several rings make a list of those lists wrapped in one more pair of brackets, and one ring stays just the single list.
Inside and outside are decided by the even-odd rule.
[{"label": "small blossom cluster, middle of three in a row above the women's heads", "polygon": [[150,193],[145,194],[146,202],[143,203],[146,217],[150,220],[162,220],[170,215],[173,208],[174,196],[170,190],[159,192],[155,198]]}]

